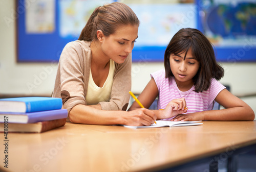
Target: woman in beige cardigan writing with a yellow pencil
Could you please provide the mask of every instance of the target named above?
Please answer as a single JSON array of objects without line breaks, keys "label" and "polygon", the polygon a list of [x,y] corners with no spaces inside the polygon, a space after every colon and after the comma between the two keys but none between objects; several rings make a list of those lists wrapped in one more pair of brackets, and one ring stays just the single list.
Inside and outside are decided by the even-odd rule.
[{"label": "woman in beige cardigan writing with a yellow pencil", "polygon": [[[61,53],[53,97],[62,97],[71,122],[96,125],[151,125],[147,109],[125,111],[131,90],[131,53],[139,20],[123,3],[98,7],[77,41]],[[124,111],[118,111],[124,110]]]}]

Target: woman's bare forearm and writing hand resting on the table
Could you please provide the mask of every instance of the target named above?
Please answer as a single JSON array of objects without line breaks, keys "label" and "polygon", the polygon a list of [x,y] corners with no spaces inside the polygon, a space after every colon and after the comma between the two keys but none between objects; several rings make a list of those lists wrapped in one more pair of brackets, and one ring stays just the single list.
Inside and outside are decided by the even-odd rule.
[{"label": "woman's bare forearm and writing hand resting on the table", "polygon": [[79,104],[70,110],[69,118],[71,122],[77,124],[150,126],[154,124],[156,115],[145,108],[130,112],[108,111]]}]

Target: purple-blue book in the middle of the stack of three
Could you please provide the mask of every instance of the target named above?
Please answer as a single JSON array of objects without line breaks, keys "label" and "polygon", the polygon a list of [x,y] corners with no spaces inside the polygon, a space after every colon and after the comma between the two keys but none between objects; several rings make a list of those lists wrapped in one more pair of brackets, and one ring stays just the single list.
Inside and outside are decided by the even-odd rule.
[{"label": "purple-blue book in the middle of the stack of three", "polygon": [[0,112],[0,123],[34,123],[39,121],[48,121],[54,119],[61,119],[68,117],[67,109],[57,109],[40,112],[29,112],[29,113],[4,113]]}]

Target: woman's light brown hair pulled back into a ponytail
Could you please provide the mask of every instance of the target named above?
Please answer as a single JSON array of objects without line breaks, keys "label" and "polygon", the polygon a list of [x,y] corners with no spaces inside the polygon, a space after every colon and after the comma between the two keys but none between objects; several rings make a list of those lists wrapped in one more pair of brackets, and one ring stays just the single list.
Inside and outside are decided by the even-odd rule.
[{"label": "woman's light brown hair pulled back into a ponytail", "polygon": [[97,30],[101,30],[105,36],[109,36],[115,33],[120,26],[127,24],[139,26],[139,23],[139,19],[129,6],[114,2],[94,10],[78,40],[92,41],[97,39]]}]

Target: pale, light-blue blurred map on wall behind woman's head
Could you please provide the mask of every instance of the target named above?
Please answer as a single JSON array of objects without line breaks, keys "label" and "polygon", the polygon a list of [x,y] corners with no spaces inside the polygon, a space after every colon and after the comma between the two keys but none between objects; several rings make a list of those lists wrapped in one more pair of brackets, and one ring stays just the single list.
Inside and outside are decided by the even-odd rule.
[{"label": "pale, light-blue blurred map on wall behind woman's head", "polygon": [[[94,9],[112,2],[114,1],[59,0],[60,36],[63,38],[79,37]],[[179,29],[196,28],[194,4],[122,2],[131,7],[140,20],[139,38],[136,40],[136,45],[166,46]]]}]

